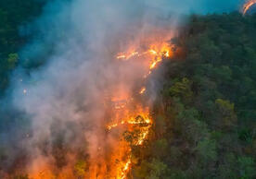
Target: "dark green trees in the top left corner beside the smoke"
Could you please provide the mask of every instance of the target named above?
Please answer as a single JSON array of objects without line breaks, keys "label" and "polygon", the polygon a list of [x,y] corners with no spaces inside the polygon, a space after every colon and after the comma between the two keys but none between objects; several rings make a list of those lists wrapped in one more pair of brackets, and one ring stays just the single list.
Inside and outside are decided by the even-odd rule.
[{"label": "dark green trees in the top left corner beside the smoke", "polygon": [[19,64],[18,54],[30,36],[20,35],[22,26],[32,22],[46,0],[0,1],[0,96],[6,90],[10,72]]}]

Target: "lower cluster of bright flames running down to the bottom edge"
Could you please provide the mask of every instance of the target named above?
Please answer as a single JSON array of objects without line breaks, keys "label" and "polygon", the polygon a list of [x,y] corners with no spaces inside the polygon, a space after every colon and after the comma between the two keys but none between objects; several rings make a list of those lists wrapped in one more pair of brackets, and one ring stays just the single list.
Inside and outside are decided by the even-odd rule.
[{"label": "lower cluster of bright flames running down to the bottom edge", "polygon": [[[132,106],[134,106],[135,109]],[[107,125],[106,128],[109,133],[113,130],[123,129],[123,134],[127,134],[129,138],[128,140],[122,139],[122,142],[119,144],[117,153],[121,153],[121,155],[112,154],[113,158],[121,161],[113,167],[113,170],[116,171],[116,175],[114,176],[113,174],[113,178],[125,179],[132,167],[131,145],[140,146],[144,143],[148,137],[153,121],[149,116],[148,108],[136,105],[133,101],[131,101],[131,103],[128,102],[122,110],[116,111],[116,114],[117,117],[112,119],[114,123]],[[123,117],[122,120],[120,120],[121,116]],[[133,135],[135,131],[137,133]]]}]

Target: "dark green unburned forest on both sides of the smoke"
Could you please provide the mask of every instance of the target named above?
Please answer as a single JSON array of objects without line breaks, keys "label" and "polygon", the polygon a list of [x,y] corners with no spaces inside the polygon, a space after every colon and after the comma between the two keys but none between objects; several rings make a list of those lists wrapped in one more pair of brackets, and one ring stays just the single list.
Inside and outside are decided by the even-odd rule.
[{"label": "dark green unburned forest on both sides of the smoke", "polygon": [[[38,17],[44,5],[45,1],[0,1],[1,99],[8,95],[17,66],[28,74],[44,66],[44,61],[22,64],[19,58],[20,48],[33,35],[22,33],[22,26]],[[165,60],[156,71],[161,89],[150,112],[155,124],[146,144],[133,146],[134,164],[128,178],[256,178],[255,31],[255,14],[187,18],[171,40],[173,59]],[[19,173],[26,156],[18,147],[28,119],[1,105],[0,178],[11,173],[11,178],[28,179],[27,173]],[[9,141],[6,131],[11,131]],[[10,151],[17,149],[16,159],[10,161]],[[60,155],[56,155],[59,162]],[[83,173],[84,168],[78,162],[74,170]]]}]

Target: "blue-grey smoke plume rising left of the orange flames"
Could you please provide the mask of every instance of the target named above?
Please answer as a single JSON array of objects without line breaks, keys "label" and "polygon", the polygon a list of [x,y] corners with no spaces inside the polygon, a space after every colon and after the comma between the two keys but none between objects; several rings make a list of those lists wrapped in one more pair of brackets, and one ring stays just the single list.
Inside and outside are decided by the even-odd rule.
[{"label": "blue-grey smoke plume rising left of the orange flames", "polygon": [[[132,95],[146,70],[138,62],[120,65],[116,54],[131,46],[143,48],[147,42],[170,40],[183,14],[234,10],[235,2],[49,3],[41,18],[21,30],[37,35],[20,52],[20,67],[2,102],[6,108],[11,106],[11,111],[16,109],[13,115],[20,120],[20,128],[12,127],[10,131],[22,131],[15,139],[11,139],[10,131],[5,133],[9,138],[5,142],[14,146],[6,154],[12,156],[7,166],[13,167],[22,151],[21,165],[26,164],[25,171],[32,175],[47,168],[55,173],[61,168],[70,174],[69,166],[78,158],[106,155],[99,146],[108,150],[116,141],[104,130],[105,99],[113,94]],[[28,70],[30,66],[33,69]],[[24,121],[26,125],[20,125]]]}]

